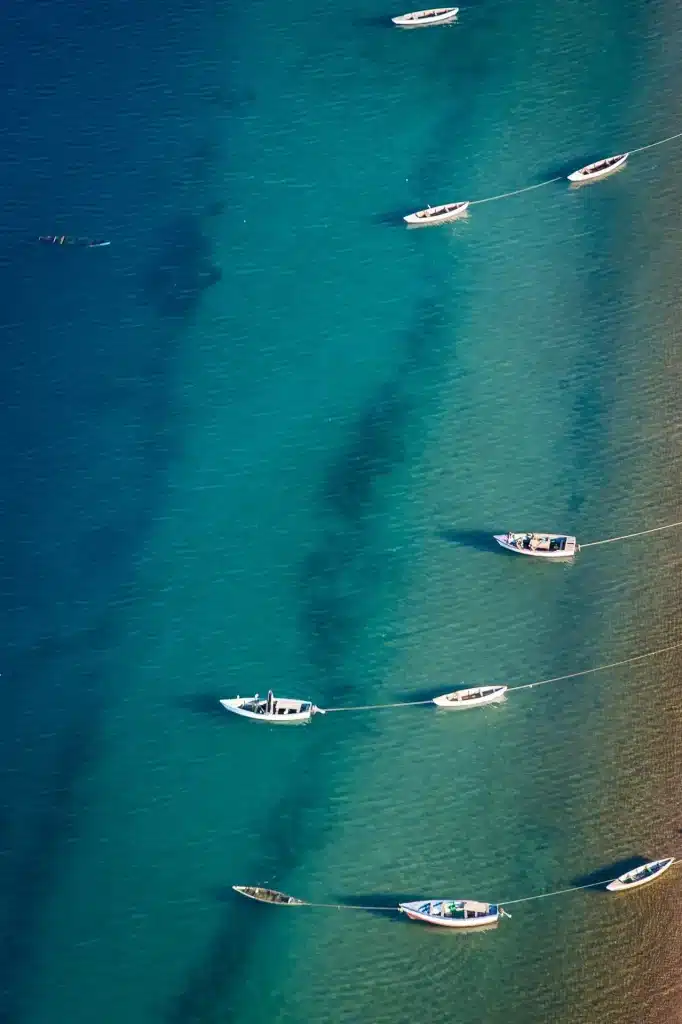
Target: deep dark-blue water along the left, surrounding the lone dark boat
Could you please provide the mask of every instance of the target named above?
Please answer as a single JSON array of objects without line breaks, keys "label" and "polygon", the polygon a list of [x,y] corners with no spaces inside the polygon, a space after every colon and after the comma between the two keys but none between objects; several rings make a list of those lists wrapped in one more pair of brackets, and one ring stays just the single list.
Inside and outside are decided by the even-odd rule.
[{"label": "deep dark-blue water along the left, surrounding the lone dark boat", "polygon": [[[99,742],[102,657],[120,638],[135,558],[180,440],[176,356],[216,276],[206,228],[219,212],[211,146],[230,99],[216,73],[213,17],[197,4],[3,10],[8,1021],[19,1012],[57,850],[77,828],[73,788]],[[113,245],[35,244],[59,232]]]}]

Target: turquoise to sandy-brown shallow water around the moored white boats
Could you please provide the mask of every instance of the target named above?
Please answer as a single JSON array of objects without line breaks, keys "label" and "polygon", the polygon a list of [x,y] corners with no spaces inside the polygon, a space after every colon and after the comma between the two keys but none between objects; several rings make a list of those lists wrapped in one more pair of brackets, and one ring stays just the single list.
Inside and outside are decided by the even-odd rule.
[{"label": "turquoise to sandy-brown shallow water around the moored white boats", "polygon": [[[74,464],[92,493],[53,516],[67,538],[87,509],[98,547],[70,575],[62,541],[50,580],[80,604],[57,602],[56,640],[31,663],[41,685],[16,700],[10,767],[29,806],[47,794],[56,808],[15,953],[32,1024],[677,1019],[674,871],[628,900],[519,904],[470,936],[229,890],[515,899],[679,850],[675,654],[463,716],[278,732],[216,710],[270,685],[337,707],[528,682],[677,635],[674,532],[572,566],[483,541],[679,518],[676,143],[600,186],[549,184],[452,227],[399,217],[676,131],[679,15],[491,3],[398,33],[390,13],[178,11],[151,58],[191,144],[184,162],[163,135],[138,150],[140,241],[159,255],[120,268],[106,308],[124,351],[157,352],[154,387],[127,420],[88,392],[84,429],[121,444],[122,424],[146,424],[156,468],[130,471],[134,434],[96,471]],[[213,265],[222,280],[203,289]],[[121,537],[88,589],[88,557]],[[45,589],[47,623],[51,605]],[[12,810],[8,826],[36,859],[41,821]]]}]

